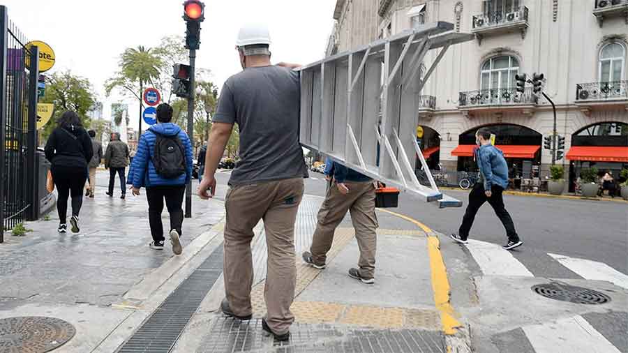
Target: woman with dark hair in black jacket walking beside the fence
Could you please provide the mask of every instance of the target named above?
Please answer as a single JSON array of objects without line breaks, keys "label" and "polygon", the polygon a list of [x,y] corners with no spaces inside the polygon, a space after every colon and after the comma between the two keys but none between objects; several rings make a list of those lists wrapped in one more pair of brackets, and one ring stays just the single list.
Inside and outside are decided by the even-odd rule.
[{"label": "woman with dark hair in black jacket walking beside the fence", "polygon": [[52,180],[59,198],[59,233],[65,233],[68,196],[72,195],[72,232],[79,232],[78,216],[83,204],[83,186],[87,181],[87,163],[94,155],[91,139],[75,112],[64,112],[59,126],[52,130],[45,148],[46,159],[52,163]]}]

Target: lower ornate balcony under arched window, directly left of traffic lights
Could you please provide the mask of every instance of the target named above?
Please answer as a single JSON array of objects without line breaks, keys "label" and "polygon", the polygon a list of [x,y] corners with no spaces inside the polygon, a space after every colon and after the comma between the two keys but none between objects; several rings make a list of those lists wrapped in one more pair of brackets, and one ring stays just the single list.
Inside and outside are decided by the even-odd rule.
[{"label": "lower ornate balcony under arched window, directly left of traffic lights", "polygon": [[474,112],[504,112],[505,110],[520,110],[522,114],[532,115],[539,98],[532,92],[532,87],[523,93],[515,87],[504,89],[481,89],[479,91],[465,91],[459,93],[458,110],[466,117],[472,117]]}]

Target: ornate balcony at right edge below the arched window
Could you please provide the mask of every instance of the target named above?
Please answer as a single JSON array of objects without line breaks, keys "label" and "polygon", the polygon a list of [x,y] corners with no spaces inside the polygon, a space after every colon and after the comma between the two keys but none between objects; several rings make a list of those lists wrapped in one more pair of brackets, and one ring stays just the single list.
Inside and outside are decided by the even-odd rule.
[{"label": "ornate balcony at right edge below the arched window", "polygon": [[587,116],[595,108],[625,106],[628,110],[628,81],[576,84],[576,105]]}]

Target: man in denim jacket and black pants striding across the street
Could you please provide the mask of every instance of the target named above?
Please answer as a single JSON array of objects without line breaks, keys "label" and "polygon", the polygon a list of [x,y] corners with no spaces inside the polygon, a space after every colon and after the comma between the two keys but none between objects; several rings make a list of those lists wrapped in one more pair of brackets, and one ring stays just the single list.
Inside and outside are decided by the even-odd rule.
[{"label": "man in denim jacket and black pants striding across the street", "polygon": [[479,208],[488,201],[493,211],[500,218],[506,229],[508,243],[503,246],[506,250],[512,250],[521,246],[523,241],[515,231],[510,213],[504,206],[502,193],[508,186],[508,165],[502,151],[491,144],[491,131],[488,128],[480,128],[475,133],[475,142],[479,146],[475,153],[479,168],[479,181],[475,183],[469,193],[469,204],[463,216],[463,221],[458,234],[451,234],[451,239],[458,243],[468,243],[469,232],[473,220]]}]

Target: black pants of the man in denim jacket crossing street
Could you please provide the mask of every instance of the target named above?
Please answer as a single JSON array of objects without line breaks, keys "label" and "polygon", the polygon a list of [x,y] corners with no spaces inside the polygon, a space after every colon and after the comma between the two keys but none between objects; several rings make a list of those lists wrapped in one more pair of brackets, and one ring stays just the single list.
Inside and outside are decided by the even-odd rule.
[{"label": "black pants of the man in denim jacket crossing street", "polygon": [[488,201],[488,204],[493,207],[493,211],[495,211],[495,214],[502,221],[502,225],[506,228],[508,239],[511,241],[519,240],[519,236],[514,229],[514,223],[512,223],[510,213],[506,211],[506,207],[504,206],[504,198],[502,197],[503,191],[504,189],[501,186],[493,185],[491,188],[493,195],[491,195],[491,197],[486,197],[484,194],[484,185],[476,183],[473,186],[471,193],[469,193],[469,204],[467,206],[467,211],[465,211],[465,216],[463,217],[463,223],[458,230],[458,235],[460,235],[462,239],[467,239],[477,211],[484,204],[484,202]]}]

